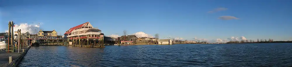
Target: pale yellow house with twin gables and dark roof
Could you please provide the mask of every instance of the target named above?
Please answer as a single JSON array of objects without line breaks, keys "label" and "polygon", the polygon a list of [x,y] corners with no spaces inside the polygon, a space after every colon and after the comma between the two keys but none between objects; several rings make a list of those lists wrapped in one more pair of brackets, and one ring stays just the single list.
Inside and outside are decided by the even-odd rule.
[{"label": "pale yellow house with twin gables and dark roof", "polygon": [[55,30],[53,31],[43,31],[39,30],[38,36],[44,36],[44,37],[57,37],[57,32]]}]

